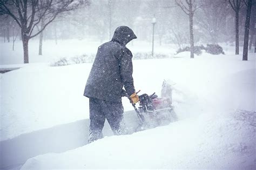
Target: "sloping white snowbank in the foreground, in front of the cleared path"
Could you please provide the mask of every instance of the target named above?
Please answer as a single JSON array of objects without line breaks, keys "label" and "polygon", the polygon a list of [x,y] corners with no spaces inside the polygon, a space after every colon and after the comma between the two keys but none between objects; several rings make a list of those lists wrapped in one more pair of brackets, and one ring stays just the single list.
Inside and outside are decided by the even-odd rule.
[{"label": "sloping white snowbank in the foreground, in front of the cleared path", "polygon": [[255,112],[202,114],[132,135],[105,137],[72,151],[39,155],[22,169],[253,169],[255,125]]}]

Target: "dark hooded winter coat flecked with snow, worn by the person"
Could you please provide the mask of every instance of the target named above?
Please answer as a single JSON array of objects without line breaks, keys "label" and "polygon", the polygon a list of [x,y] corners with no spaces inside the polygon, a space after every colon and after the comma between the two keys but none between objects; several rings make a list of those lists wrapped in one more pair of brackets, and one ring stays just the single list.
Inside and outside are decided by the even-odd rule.
[{"label": "dark hooded winter coat flecked with snow, worn by the person", "polygon": [[129,27],[119,26],[112,40],[98,47],[84,96],[119,102],[123,86],[129,95],[135,92],[132,53],[125,45],[136,38]]}]

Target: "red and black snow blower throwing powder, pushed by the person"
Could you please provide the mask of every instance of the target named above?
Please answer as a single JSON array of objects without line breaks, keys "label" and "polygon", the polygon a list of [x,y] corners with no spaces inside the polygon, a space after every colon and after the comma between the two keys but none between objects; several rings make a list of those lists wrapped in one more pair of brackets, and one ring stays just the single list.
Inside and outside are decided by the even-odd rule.
[{"label": "red and black snow blower throwing powder, pushed by the person", "polygon": [[[129,98],[126,92],[124,96]],[[158,97],[156,93],[150,96],[144,93],[139,96],[138,104],[138,108],[136,104],[132,104],[139,119],[136,131],[167,125],[178,120],[172,106],[172,88],[167,81],[163,83],[161,97]]]}]

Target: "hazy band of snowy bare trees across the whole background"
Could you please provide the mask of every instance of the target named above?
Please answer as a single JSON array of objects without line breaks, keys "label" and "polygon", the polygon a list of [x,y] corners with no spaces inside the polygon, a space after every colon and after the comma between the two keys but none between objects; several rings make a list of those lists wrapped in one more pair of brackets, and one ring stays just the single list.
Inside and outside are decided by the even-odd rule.
[{"label": "hazy band of snowy bare trees across the whole background", "polygon": [[1,0],[0,36],[13,48],[16,39],[22,40],[28,63],[31,38],[39,39],[39,55],[43,39],[103,42],[119,25],[130,26],[140,40],[150,42],[156,16],[160,45],[190,46],[193,58],[194,44],[230,42],[236,55],[244,44],[247,60],[248,49],[255,46],[255,11],[255,0]]}]

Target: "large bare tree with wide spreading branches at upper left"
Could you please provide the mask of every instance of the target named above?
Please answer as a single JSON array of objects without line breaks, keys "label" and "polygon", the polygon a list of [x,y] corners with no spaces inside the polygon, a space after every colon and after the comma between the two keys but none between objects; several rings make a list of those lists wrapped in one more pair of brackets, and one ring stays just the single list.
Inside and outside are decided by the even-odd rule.
[{"label": "large bare tree with wide spreading branches at upper left", "polygon": [[[43,0],[42,0],[43,1]],[[41,33],[59,13],[74,10],[79,5],[78,1],[73,0],[45,0],[39,6],[39,0],[4,0],[0,1],[0,14],[9,15],[15,19],[21,28],[24,63],[29,63],[29,40]],[[45,18],[42,28],[37,28]]]}]

